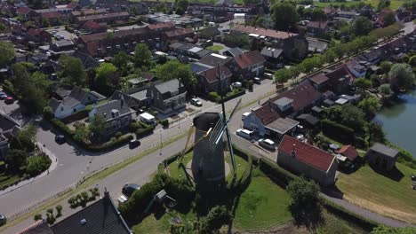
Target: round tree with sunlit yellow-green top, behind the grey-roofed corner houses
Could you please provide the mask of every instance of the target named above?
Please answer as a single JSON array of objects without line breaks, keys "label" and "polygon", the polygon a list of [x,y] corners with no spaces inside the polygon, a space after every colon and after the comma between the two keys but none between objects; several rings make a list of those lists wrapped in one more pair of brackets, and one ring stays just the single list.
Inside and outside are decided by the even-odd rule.
[{"label": "round tree with sunlit yellow-green top, behind the grey-roofed corner houses", "polygon": [[100,93],[111,95],[119,85],[117,67],[110,63],[101,63],[96,69],[94,84]]}]

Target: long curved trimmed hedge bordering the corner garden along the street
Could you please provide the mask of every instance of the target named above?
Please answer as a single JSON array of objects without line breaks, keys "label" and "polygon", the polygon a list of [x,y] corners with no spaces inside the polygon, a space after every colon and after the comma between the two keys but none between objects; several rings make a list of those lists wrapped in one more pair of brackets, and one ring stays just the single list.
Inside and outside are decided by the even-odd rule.
[{"label": "long curved trimmed hedge bordering the corner garden along the street", "polygon": [[65,125],[62,121],[53,118],[51,120],[51,123],[53,127],[56,129],[59,129],[60,132],[65,136],[71,139],[72,141],[76,142],[76,144],[81,145],[85,150],[90,152],[105,152],[112,150],[114,148],[120,147],[123,144],[129,143],[134,137],[131,134],[127,134],[124,136],[120,136],[119,138],[116,138],[115,140],[108,141],[104,144],[86,144],[84,141],[76,141],[74,139],[75,132],[68,128],[67,125]]}]

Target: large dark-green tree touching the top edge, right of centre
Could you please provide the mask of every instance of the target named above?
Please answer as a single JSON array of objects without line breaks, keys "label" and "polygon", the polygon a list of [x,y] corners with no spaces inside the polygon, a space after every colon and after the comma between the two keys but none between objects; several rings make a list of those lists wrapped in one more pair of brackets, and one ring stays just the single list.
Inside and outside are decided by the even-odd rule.
[{"label": "large dark-green tree touching the top edge, right of centre", "polygon": [[296,12],[296,5],[294,3],[276,2],[272,6],[272,12],[272,19],[275,21],[275,28],[277,30],[287,31],[299,20],[299,14]]}]

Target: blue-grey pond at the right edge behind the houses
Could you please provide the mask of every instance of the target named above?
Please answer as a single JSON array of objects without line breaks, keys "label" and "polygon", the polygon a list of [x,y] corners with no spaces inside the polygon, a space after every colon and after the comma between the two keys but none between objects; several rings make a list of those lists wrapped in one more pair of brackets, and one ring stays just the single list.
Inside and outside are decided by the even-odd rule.
[{"label": "blue-grey pond at the right edge behind the houses", "polygon": [[396,105],[384,107],[374,121],[381,124],[390,142],[412,152],[416,158],[416,90],[399,98]]}]

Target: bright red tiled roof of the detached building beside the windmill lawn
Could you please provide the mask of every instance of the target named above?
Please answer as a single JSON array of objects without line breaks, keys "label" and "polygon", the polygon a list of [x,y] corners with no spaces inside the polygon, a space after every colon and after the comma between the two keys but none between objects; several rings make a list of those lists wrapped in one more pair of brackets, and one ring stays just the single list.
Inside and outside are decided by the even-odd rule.
[{"label": "bright red tiled roof of the detached building beside the windmill lawn", "polygon": [[293,145],[295,145],[294,151],[297,160],[325,172],[331,167],[334,156],[313,145],[300,142],[291,136],[284,135],[279,145],[279,152],[292,155]]}]

